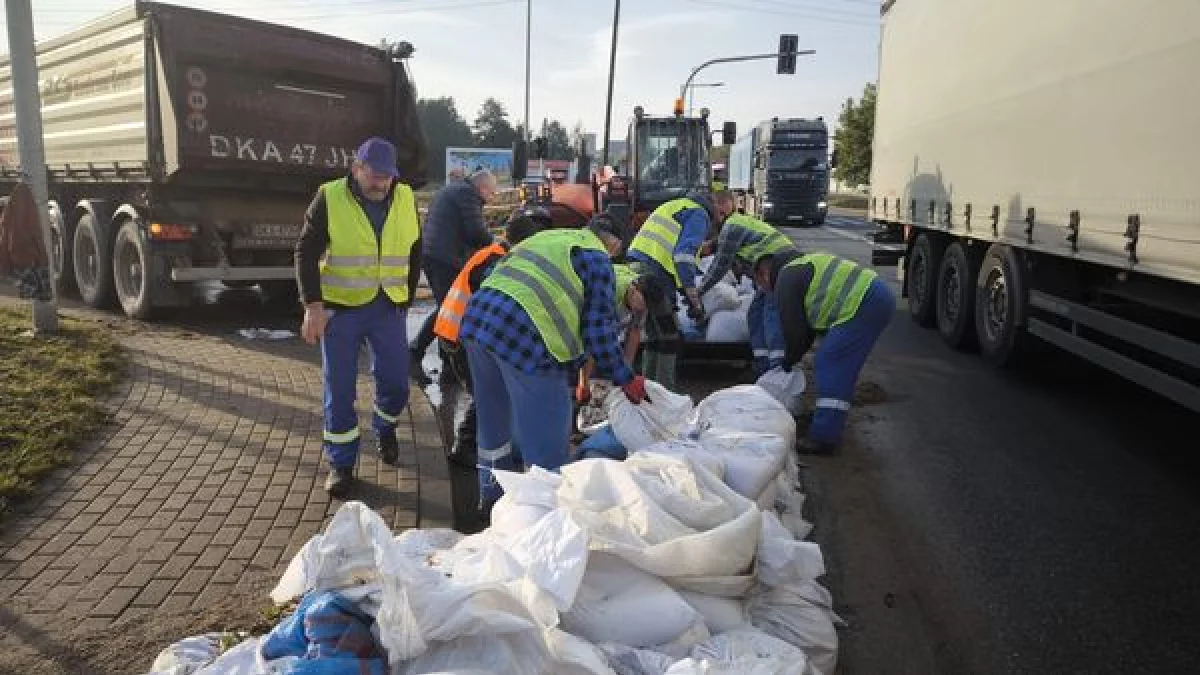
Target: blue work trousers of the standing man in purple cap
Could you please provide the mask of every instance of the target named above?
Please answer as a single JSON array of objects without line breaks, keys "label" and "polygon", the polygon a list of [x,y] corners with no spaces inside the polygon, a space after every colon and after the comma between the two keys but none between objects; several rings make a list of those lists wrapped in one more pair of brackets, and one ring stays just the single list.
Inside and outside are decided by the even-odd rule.
[{"label": "blue work trousers of the standing man in purple cap", "polygon": [[380,437],[396,432],[408,405],[408,311],[384,293],[361,307],[326,310],[331,316],[320,340],[325,381],[324,448],[334,467],[354,466],[359,456],[359,416],[354,399],[359,353],[364,344],[374,376],[374,426]]}]

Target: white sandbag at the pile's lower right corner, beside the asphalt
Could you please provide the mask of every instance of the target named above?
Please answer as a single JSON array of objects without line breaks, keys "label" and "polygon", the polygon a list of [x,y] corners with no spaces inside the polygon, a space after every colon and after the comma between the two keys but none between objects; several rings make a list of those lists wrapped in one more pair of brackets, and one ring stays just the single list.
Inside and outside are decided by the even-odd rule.
[{"label": "white sandbag at the pile's lower right corner, beside the asphalt", "polygon": [[746,603],[750,623],[804,650],[816,675],[838,668],[838,632],[833,597],[816,581],[761,586]]}]

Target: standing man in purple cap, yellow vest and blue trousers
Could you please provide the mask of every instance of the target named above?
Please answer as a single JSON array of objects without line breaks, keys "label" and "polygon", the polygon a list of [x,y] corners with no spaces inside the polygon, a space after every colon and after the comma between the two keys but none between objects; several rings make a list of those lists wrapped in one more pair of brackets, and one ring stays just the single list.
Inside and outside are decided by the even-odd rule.
[{"label": "standing man in purple cap, yellow vest and blue trousers", "polygon": [[379,456],[400,458],[396,422],[408,405],[406,317],[420,276],[421,229],[413,190],[396,178],[396,148],[368,138],[350,175],[320,186],[296,244],[301,333],[320,341],[324,376],[325,490],[346,496],[359,455],[354,411],[359,351],[366,342],[374,376]]}]

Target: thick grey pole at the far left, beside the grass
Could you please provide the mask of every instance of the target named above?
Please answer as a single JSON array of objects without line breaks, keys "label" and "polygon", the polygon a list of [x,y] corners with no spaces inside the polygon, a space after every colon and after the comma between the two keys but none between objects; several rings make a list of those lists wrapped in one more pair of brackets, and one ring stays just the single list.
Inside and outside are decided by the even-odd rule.
[{"label": "thick grey pole at the far left, beside the grass", "polygon": [[[34,12],[30,0],[5,0],[8,20],[8,59],[12,68],[12,100],[17,117],[17,145],[20,169],[34,191],[37,223],[42,231],[47,267],[50,268],[50,299],[34,299],[34,334],[59,329],[54,298],[54,249],[50,245],[50,219],[46,186],[46,154],[42,148],[42,96],[37,85],[37,52],[34,47]],[[65,245],[65,244],[64,244]]]}]

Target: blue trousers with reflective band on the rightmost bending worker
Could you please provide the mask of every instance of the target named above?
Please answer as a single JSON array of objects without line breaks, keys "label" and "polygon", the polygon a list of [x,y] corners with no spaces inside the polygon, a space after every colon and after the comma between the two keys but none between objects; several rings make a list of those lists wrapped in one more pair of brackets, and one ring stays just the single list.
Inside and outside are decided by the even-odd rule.
[{"label": "blue trousers with reflective band on the rightmost bending worker", "polygon": [[834,325],[821,339],[814,364],[817,404],[808,431],[812,441],[841,442],[858,374],[895,311],[895,295],[883,280],[876,279],[854,317]]}]

